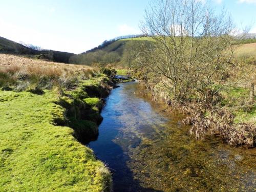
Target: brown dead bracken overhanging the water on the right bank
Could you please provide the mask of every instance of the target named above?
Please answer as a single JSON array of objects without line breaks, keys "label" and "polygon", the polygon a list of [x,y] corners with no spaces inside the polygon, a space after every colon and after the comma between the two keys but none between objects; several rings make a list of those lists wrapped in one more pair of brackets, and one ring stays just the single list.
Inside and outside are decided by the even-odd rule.
[{"label": "brown dead bracken overhanging the water on the right bank", "polygon": [[188,115],[183,122],[192,125],[190,134],[195,135],[196,139],[204,139],[207,134],[220,134],[231,145],[255,146],[256,144],[255,125],[235,123],[235,116],[229,109],[205,110],[200,103],[186,103],[179,109],[183,109]]}]

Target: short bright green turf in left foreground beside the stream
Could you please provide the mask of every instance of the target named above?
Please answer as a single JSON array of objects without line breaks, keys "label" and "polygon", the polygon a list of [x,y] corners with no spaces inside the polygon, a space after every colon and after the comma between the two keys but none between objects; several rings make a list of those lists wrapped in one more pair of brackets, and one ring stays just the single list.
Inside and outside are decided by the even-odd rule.
[{"label": "short bright green turf in left foreground beside the stream", "polygon": [[70,127],[55,124],[66,114],[58,101],[54,91],[0,91],[0,191],[108,190],[109,170]]}]

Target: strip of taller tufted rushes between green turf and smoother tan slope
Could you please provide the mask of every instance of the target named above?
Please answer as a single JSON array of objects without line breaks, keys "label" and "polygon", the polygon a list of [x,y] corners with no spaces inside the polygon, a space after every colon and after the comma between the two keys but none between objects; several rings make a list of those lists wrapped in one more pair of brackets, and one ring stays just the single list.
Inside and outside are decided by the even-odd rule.
[{"label": "strip of taller tufted rushes between green turf and smoother tan slope", "polygon": [[[0,89],[5,91],[52,90],[54,87],[73,90],[80,80],[88,80],[98,73],[86,66],[0,66]],[[39,91],[39,92],[41,92]]]}]

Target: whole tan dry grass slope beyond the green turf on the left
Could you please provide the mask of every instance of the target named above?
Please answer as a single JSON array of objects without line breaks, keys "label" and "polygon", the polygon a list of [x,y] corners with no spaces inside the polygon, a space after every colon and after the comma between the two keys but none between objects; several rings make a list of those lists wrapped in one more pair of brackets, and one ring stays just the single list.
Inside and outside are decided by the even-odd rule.
[{"label": "whole tan dry grass slope beyond the green turf on the left", "polygon": [[[80,80],[92,78],[97,70],[21,56],[0,54],[0,89],[39,91],[58,87],[74,89]],[[41,90],[41,91],[40,91]]]}]

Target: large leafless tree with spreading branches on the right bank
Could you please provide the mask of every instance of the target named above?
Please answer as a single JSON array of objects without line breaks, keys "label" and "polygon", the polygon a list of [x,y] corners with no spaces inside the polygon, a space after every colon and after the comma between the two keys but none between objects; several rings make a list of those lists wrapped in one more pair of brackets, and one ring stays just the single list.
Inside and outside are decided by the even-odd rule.
[{"label": "large leafless tree with spreading branches on the right bank", "polygon": [[145,12],[141,30],[153,38],[139,49],[139,63],[154,72],[178,100],[189,94],[205,103],[214,101],[227,86],[236,82],[230,73],[238,38],[232,20],[198,0],[158,0]]}]

